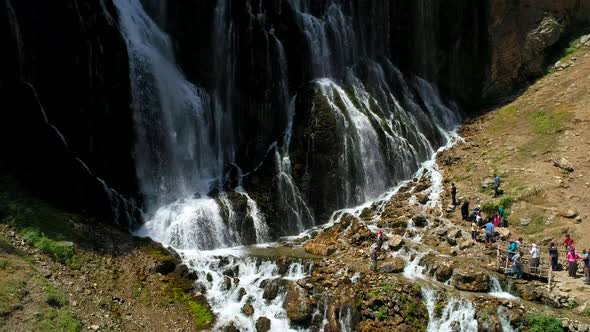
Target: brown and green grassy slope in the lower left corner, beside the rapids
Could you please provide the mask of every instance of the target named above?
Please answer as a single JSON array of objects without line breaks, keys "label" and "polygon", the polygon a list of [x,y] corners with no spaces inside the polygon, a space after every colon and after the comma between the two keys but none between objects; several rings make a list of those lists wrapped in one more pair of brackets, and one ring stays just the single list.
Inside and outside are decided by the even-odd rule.
[{"label": "brown and green grassy slope in the lower left corner, beside the rapids", "polygon": [[209,327],[192,282],[151,272],[165,260],[175,258],[160,245],[55,209],[0,176],[0,331]]}]

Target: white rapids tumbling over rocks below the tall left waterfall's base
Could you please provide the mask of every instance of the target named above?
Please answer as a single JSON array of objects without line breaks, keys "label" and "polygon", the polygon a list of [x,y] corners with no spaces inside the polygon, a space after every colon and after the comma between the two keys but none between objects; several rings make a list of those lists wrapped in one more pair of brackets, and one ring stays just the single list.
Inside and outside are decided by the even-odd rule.
[{"label": "white rapids tumbling over rocks below the tall left waterfall's base", "polygon": [[[308,267],[293,262],[281,275],[278,266],[271,261],[244,257],[243,253],[227,249],[181,251],[181,255],[207,289],[205,296],[217,319],[215,330],[233,323],[240,331],[256,331],[256,320],[264,316],[270,319],[272,331],[294,331],[283,308],[285,287],[281,287],[276,298],[267,300],[263,298],[263,285],[272,281],[296,281],[309,273]],[[254,307],[250,317],[241,311],[246,303]]]}]

